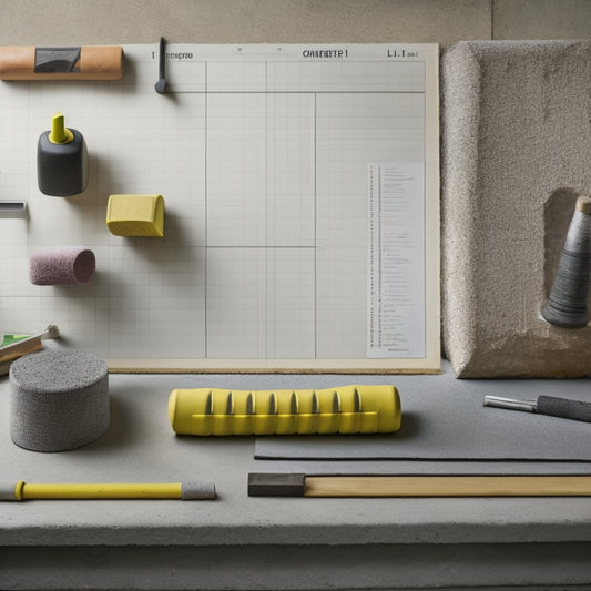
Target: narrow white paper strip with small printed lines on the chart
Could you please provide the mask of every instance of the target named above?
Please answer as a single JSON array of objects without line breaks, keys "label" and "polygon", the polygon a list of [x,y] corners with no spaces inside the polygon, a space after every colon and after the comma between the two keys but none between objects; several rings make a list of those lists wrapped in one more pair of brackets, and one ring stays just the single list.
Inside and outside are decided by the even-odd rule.
[{"label": "narrow white paper strip with small printed lines on the chart", "polygon": [[425,356],[425,164],[368,171],[367,356]]}]

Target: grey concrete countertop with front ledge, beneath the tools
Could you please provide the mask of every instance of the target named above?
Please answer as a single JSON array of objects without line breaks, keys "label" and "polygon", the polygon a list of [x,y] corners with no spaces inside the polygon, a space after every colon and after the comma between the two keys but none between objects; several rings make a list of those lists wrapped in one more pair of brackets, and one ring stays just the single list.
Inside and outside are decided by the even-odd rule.
[{"label": "grey concrete countertop with front ledge, beneath the tools", "polygon": [[[445,571],[447,574],[439,573],[439,579],[434,578],[434,584],[436,579],[447,581],[446,584],[450,587],[458,582],[467,584],[470,580],[475,583],[469,573],[477,563],[482,577],[486,578],[483,573],[490,571],[491,582],[508,584],[507,577],[511,570],[498,567],[503,561],[511,564],[516,560],[516,552],[529,578],[523,578],[520,571],[519,577],[513,573],[511,583],[519,580],[520,584],[523,581],[538,584],[546,582],[550,575],[558,581],[557,584],[569,581],[581,584],[585,579],[591,580],[591,565],[585,558],[591,548],[591,497],[249,498],[247,473],[273,471],[272,467],[276,463],[254,459],[254,438],[175,436],[166,411],[169,395],[174,388],[320,388],[354,383],[397,385],[404,409],[405,396],[411,396],[412,389],[425,380],[431,380],[437,389],[469,385],[473,387],[475,396],[482,396],[482,391],[488,391],[491,384],[487,380],[456,380],[447,365],[444,365],[444,371],[438,376],[111,375],[111,426],[106,435],[78,450],[39,454],[21,449],[10,440],[10,383],[3,377],[0,380],[0,417],[3,422],[0,429],[0,475],[3,482],[202,479],[215,482],[218,498],[202,501],[2,502],[0,587],[34,587],[37,579],[31,579],[33,574],[28,565],[31,560],[39,560],[38,575],[47,577],[48,572],[53,572],[60,565],[60,577],[54,583],[57,587],[48,583],[45,588],[68,584],[75,588],[80,582],[77,569],[82,569],[88,577],[88,569],[84,568],[89,565],[89,560],[91,565],[94,560],[110,573],[105,575],[106,571],[101,571],[103,579],[100,584],[96,583],[99,587],[123,584],[122,581],[133,571],[130,571],[130,564],[135,564],[140,572],[147,564],[155,569],[160,561],[167,571],[176,564],[175,568],[186,571],[186,578],[174,578],[173,584],[159,571],[162,575],[160,579],[154,575],[151,582],[137,588],[184,589],[185,584],[195,584],[194,569],[201,569],[201,577],[207,570],[206,564],[195,562],[192,552],[198,552],[202,560],[210,557],[214,561],[227,561],[234,557],[235,561],[233,565],[227,565],[230,579],[221,582],[216,578],[210,580],[205,577],[200,589],[224,588],[224,584],[235,589],[261,588],[264,584],[271,584],[274,589],[347,589],[347,585],[353,585],[351,589],[356,585],[394,589],[407,583],[410,585],[412,564],[429,564],[431,570],[427,570],[435,577],[434,573],[441,568],[441,560],[452,567]],[[539,394],[543,393],[540,388],[548,393],[556,391],[559,384],[568,386],[569,391],[574,388],[584,393],[590,390],[591,381],[506,381],[506,386],[508,384],[512,385],[513,391],[510,394],[514,395],[531,387]],[[434,389],[434,396],[437,389]],[[297,469],[300,468],[302,462],[297,462]],[[173,550],[180,547],[188,553]],[[258,551],[253,554],[255,549]],[[313,552],[313,549],[316,550]],[[342,552],[335,554],[336,549]],[[398,560],[393,562],[393,549],[396,549],[397,556],[406,557],[405,567],[400,567]],[[489,558],[475,562],[473,552],[477,549],[488,549]],[[560,578],[556,569],[551,573],[544,572],[546,567],[537,567],[536,575],[531,574],[529,562],[536,559],[538,564],[543,563],[540,558],[550,550],[548,568],[560,557],[564,560],[568,557],[570,567],[565,578]],[[320,577],[322,580],[305,582],[306,577],[303,579],[299,572],[283,579],[285,569],[294,560],[313,561],[318,573],[324,572],[323,577],[333,573],[333,578],[325,581]],[[348,560],[374,564],[373,574],[368,577],[361,569],[348,580],[338,570],[339,564]],[[269,562],[273,563],[271,570]],[[395,564],[398,564],[395,569],[398,574],[394,580]],[[458,575],[458,564],[465,567],[462,575]],[[258,574],[254,579],[246,577],[247,572],[254,572],[253,569]],[[338,577],[337,572],[340,573]],[[406,574],[403,575],[403,572]],[[64,579],[67,574],[71,579]],[[7,584],[1,584],[2,577],[6,577]],[[271,577],[272,582],[267,577]],[[281,584],[278,580],[282,580]],[[385,581],[387,584],[384,584]],[[429,581],[425,579],[426,587],[431,584]]]}]

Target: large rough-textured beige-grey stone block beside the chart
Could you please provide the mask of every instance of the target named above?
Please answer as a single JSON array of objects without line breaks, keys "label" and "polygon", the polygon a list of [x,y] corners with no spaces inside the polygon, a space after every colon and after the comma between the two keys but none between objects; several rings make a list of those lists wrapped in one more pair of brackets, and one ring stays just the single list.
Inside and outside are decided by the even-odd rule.
[{"label": "large rough-textured beige-grey stone block beside the chart", "polygon": [[442,335],[457,377],[591,375],[591,327],[547,323],[591,192],[591,41],[465,41],[441,61]]}]

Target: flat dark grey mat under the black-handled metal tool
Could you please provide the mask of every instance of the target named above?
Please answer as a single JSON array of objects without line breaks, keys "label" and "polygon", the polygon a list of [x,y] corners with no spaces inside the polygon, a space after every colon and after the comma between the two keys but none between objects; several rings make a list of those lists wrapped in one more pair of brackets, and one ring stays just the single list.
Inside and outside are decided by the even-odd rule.
[{"label": "flat dark grey mat under the black-handled metal tool", "polygon": [[591,461],[591,424],[483,406],[486,394],[591,399],[589,380],[452,380],[398,376],[403,426],[387,435],[266,436],[268,460]]}]

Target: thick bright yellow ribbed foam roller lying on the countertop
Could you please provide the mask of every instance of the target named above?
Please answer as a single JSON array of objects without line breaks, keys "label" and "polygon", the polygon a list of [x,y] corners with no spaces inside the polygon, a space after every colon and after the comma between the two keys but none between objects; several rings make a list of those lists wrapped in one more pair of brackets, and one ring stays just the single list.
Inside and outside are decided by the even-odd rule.
[{"label": "thick bright yellow ribbed foam roller lying on the countertop", "polygon": [[395,386],[195,388],[171,393],[169,418],[182,435],[373,434],[397,431],[401,410]]}]

